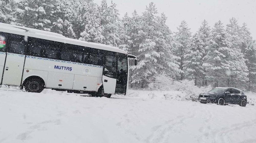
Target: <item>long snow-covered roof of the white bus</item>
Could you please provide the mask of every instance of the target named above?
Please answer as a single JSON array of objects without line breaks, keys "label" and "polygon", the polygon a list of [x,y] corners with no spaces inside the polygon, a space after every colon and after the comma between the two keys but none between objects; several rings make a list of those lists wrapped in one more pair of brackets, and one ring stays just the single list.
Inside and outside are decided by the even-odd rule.
[{"label": "long snow-covered roof of the white bus", "polygon": [[107,50],[107,51],[113,51],[113,52],[127,54],[127,52],[125,52],[124,50],[121,50],[121,49],[113,47],[113,46],[108,46],[108,45],[98,44],[98,43],[93,43],[93,42],[86,42],[86,41],[77,40],[77,39],[71,39],[71,38],[67,38],[61,34],[57,34],[57,33],[53,33],[53,32],[37,30],[37,29],[16,26],[16,25],[10,25],[10,24],[5,24],[5,23],[1,23],[1,22],[0,22],[0,32],[18,34],[18,35],[23,35],[23,36],[28,36],[28,37],[35,37],[35,38],[46,39],[46,40],[51,40],[51,41],[56,41],[56,42],[62,42],[62,43],[67,43],[67,44],[73,44],[73,45],[79,45],[79,46],[84,46],[84,47],[90,47],[90,48],[95,48],[95,49],[101,49],[101,50]]}]

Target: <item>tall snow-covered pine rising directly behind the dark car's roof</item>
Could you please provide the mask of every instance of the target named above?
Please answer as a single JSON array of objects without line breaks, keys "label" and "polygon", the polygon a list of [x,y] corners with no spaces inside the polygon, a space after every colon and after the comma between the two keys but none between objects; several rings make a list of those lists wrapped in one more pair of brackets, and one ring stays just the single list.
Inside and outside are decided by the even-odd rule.
[{"label": "tall snow-covered pine rising directly behind the dark car's roof", "polygon": [[231,39],[224,30],[221,21],[215,23],[210,34],[210,41],[207,42],[207,55],[203,58],[203,66],[206,67],[208,81],[214,83],[214,87],[226,86],[230,70]]}]

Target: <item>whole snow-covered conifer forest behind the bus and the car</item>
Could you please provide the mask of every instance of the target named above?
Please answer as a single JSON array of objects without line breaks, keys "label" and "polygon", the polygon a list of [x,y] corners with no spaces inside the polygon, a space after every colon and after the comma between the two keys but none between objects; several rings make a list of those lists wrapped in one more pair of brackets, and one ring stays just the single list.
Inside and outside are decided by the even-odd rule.
[{"label": "whole snow-covered conifer forest behind the bus and the car", "polygon": [[[129,14],[131,15],[131,14]],[[157,78],[194,80],[198,87],[256,89],[256,44],[246,23],[207,19],[191,33],[181,21],[169,29],[167,17],[150,3],[120,18],[115,3],[105,0],[0,0],[0,22],[62,34],[69,38],[112,45],[136,55],[132,88],[154,89]],[[246,21],[245,21],[246,22]],[[176,31],[176,32],[174,32]]]}]

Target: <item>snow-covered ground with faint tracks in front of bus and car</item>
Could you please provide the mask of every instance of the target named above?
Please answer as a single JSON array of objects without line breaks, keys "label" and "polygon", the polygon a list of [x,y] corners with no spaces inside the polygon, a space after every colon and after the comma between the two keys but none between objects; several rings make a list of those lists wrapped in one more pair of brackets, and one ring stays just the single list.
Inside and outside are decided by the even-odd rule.
[{"label": "snow-covered ground with faint tracks in front of bus and car", "polygon": [[256,108],[0,90],[0,142],[252,143]]}]

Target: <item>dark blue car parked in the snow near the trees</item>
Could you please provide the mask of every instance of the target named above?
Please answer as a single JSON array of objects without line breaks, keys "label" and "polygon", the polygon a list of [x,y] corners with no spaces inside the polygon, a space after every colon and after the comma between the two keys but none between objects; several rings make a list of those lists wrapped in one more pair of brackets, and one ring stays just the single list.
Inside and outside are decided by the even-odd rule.
[{"label": "dark blue car parked in the snow near the trees", "polygon": [[215,88],[198,96],[200,103],[216,103],[218,105],[237,104],[245,107],[247,96],[237,88]]}]

